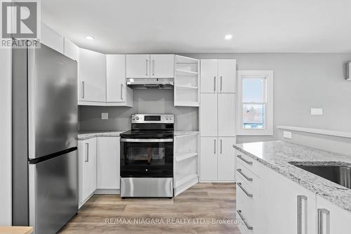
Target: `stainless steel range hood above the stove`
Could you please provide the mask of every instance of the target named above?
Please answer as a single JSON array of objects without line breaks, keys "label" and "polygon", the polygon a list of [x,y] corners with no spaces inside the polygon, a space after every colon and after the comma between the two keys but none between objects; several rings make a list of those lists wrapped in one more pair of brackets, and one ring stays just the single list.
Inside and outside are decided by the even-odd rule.
[{"label": "stainless steel range hood above the stove", "polygon": [[131,89],[173,89],[173,78],[128,78]]}]

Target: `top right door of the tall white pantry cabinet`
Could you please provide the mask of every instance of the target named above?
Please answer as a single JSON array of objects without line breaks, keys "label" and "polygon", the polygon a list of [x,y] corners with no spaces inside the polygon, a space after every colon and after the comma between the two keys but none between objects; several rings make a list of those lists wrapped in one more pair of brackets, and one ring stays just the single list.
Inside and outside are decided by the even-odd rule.
[{"label": "top right door of the tall white pantry cabinet", "polygon": [[233,59],[218,60],[218,93],[235,93],[237,62]]}]

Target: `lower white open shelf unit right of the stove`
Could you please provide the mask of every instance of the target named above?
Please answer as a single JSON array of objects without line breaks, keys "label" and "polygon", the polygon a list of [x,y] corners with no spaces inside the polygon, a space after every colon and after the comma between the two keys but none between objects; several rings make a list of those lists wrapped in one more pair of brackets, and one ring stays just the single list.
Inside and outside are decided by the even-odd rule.
[{"label": "lower white open shelf unit right of the stove", "polygon": [[199,182],[199,133],[174,138],[174,195]]}]

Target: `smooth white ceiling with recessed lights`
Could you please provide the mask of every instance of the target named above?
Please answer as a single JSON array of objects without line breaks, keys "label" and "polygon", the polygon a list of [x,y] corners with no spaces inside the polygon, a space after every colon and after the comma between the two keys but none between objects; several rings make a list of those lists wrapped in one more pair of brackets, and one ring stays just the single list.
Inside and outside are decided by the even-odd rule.
[{"label": "smooth white ceiling with recessed lights", "polygon": [[102,53],[351,52],[350,0],[42,0],[41,8],[48,26]]}]

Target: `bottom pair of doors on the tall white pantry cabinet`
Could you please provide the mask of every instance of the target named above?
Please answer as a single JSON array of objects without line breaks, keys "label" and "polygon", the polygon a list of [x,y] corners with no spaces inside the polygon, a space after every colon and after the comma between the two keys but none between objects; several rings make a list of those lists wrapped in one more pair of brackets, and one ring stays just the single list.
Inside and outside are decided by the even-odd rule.
[{"label": "bottom pair of doors on the tall white pantry cabinet", "polygon": [[201,181],[235,181],[235,143],[235,137],[201,137]]}]

